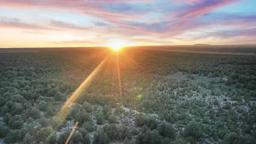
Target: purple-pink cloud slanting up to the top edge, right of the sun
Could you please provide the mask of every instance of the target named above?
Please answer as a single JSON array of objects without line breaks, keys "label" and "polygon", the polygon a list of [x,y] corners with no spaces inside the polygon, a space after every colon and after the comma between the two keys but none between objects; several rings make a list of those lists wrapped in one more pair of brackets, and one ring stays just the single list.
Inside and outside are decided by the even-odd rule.
[{"label": "purple-pink cloud slanting up to the top edge, right of the sun", "polygon": [[[188,30],[211,25],[215,22],[201,22],[199,18],[221,6],[237,1],[239,0],[192,0],[185,8],[183,7],[180,11],[178,10],[175,13],[169,13],[166,16],[166,21],[168,21],[168,23],[164,26],[168,28],[164,28],[166,31],[163,31],[159,37],[173,37]],[[188,1],[185,0],[184,2]]]}]

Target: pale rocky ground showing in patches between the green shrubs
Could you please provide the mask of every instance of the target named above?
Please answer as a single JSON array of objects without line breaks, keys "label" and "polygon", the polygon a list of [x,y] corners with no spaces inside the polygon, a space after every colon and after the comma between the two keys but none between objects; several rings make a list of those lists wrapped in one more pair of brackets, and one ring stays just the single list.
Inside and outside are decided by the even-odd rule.
[{"label": "pale rocky ground showing in patches between the green shrubs", "polygon": [[[218,91],[220,91],[218,86],[219,85],[224,85],[224,84],[219,84],[218,81],[220,79],[226,80],[227,78],[208,78],[208,77],[205,77],[205,76],[191,75],[191,76],[193,76],[193,79],[191,79],[191,78],[188,78],[187,74],[184,74],[182,72],[172,73],[171,75],[168,75],[168,76],[160,76],[160,75],[154,75],[154,76],[156,77],[156,79],[164,79],[165,80],[165,82],[157,83],[160,86],[165,86],[165,87],[168,86],[169,81],[176,81],[176,82],[187,81],[188,84],[189,84],[189,87],[192,86],[192,85],[198,86],[199,92],[191,91],[192,95],[185,95],[185,96],[182,96],[182,97],[177,96],[176,100],[173,99],[176,104],[182,104],[185,101],[190,101],[190,100],[193,100],[193,99],[205,101],[206,104],[209,104],[210,101],[213,102],[215,99],[217,99],[220,106],[223,107],[224,103],[226,101],[230,102],[231,104],[237,102],[237,101],[232,101],[230,97],[225,95],[225,93],[222,93],[221,95],[218,95],[218,96],[212,96],[210,94],[211,93],[210,89],[207,89],[207,88],[204,88],[204,87],[200,86],[201,82],[204,82],[205,84],[210,84],[211,81],[216,81],[216,84],[213,84],[214,85],[214,91],[218,92]],[[154,86],[154,85],[152,84],[151,86]],[[179,91],[182,90],[182,89],[184,89],[184,88],[179,87],[177,89],[173,89],[172,92],[173,92],[173,94],[178,95]],[[130,90],[132,91],[133,89],[130,89]],[[148,90],[150,90],[150,87],[148,88]],[[161,94],[163,92],[157,91],[157,92],[154,92],[154,93]],[[202,93],[207,94],[205,98],[202,97]],[[226,101],[224,101],[224,99],[226,99]],[[251,104],[256,104],[256,101],[251,101]],[[124,124],[130,130],[132,130],[134,127],[136,127],[135,122],[134,122],[134,118],[140,112],[136,109],[130,109],[128,107],[124,107],[122,104],[119,104],[119,103],[117,103],[117,105],[119,105],[124,110],[124,112],[128,113],[128,115],[126,115],[126,116],[123,114],[124,112],[121,115],[116,116],[118,124]],[[72,107],[72,106],[73,105],[70,105],[70,107]],[[212,105],[212,106],[213,106],[213,109],[215,111],[218,110],[218,106],[215,106],[215,105]],[[102,110],[102,106],[97,106],[97,107],[98,107],[97,111]],[[249,110],[249,107],[247,105],[241,105],[241,106],[235,106],[235,107],[231,106],[231,109],[236,109],[237,107],[239,107],[241,109],[244,109],[246,112],[248,112],[248,110]],[[112,109],[112,112],[114,112],[114,111],[115,111],[115,109]],[[154,118],[157,119],[157,121],[159,123],[164,121],[163,119],[160,119],[160,117],[156,113],[145,113],[145,114],[148,115],[148,116],[153,116]],[[41,112],[41,115],[45,115],[45,112]],[[195,117],[194,115],[191,115],[189,113],[187,113],[187,115],[189,115],[192,119],[194,119],[194,117]],[[95,131],[89,133],[89,137],[92,141],[93,140],[93,135],[96,132],[96,129],[102,129],[106,124],[108,124],[108,121],[104,121],[103,124],[96,124],[96,112],[90,113],[90,116],[93,119],[93,124],[95,126],[94,127]],[[0,117],[0,121],[2,121],[1,117]],[[241,121],[239,121],[239,123],[241,123]],[[61,135],[61,133],[64,133],[66,130],[73,129],[73,127],[74,127],[74,120],[67,121],[67,123],[64,125],[64,127],[61,130],[59,130],[58,132],[56,132],[56,135],[59,136],[59,135]],[[184,126],[182,126],[180,124],[173,124],[173,127],[175,128],[175,130],[177,130],[177,136],[180,136],[180,132],[182,132],[184,130]],[[140,129],[140,128],[137,128],[137,129]],[[133,137],[133,139],[134,139],[134,137]],[[209,138],[201,139],[201,142],[204,143],[204,144],[215,143],[215,141],[213,139],[209,139]],[[0,139],[0,144],[4,144],[3,139]],[[115,142],[112,142],[112,144],[122,144],[122,142],[115,141]]]}]

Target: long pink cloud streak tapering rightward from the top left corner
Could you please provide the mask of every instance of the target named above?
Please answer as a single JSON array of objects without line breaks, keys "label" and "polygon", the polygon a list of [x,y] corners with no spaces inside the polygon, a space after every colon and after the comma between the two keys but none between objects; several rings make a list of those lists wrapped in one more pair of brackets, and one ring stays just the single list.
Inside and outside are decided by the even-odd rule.
[{"label": "long pink cloud streak tapering rightward from the top left corner", "polygon": [[134,16],[109,12],[101,9],[108,3],[122,3],[124,1],[141,2],[145,0],[4,0],[0,6],[17,7],[23,9],[50,9],[67,12],[79,12],[81,14],[97,14],[119,18],[133,18]]}]

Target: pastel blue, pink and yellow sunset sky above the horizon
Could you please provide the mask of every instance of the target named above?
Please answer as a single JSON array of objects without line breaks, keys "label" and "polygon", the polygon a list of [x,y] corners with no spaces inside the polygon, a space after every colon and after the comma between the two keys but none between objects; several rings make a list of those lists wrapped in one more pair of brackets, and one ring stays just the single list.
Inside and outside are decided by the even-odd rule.
[{"label": "pastel blue, pink and yellow sunset sky above the horizon", "polygon": [[256,0],[0,0],[0,48],[256,43]]}]

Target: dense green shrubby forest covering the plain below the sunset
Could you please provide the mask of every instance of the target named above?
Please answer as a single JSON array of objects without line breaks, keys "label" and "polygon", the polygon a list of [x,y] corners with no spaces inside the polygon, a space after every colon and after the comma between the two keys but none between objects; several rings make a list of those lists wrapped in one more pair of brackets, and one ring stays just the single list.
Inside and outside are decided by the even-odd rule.
[{"label": "dense green shrubby forest covering the plain below the sunset", "polygon": [[[136,47],[1,51],[0,143],[64,144],[79,122],[69,144],[256,144],[255,55]],[[106,57],[67,116],[58,117]]]}]

